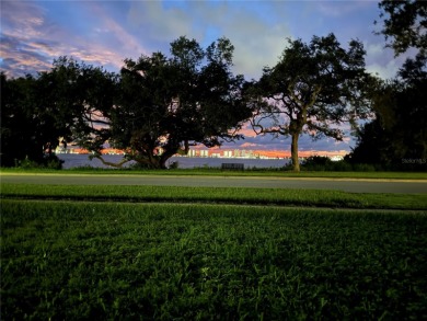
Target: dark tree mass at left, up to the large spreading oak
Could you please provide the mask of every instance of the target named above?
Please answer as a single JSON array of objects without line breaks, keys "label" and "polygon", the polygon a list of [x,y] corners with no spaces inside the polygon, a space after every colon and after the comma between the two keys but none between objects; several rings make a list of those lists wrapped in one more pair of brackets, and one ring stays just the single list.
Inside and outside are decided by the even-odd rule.
[{"label": "dark tree mass at left, up to the large spreading oak", "polygon": [[113,105],[114,74],[60,57],[37,78],[2,73],[1,93],[1,165],[26,157],[46,165],[60,137],[86,147],[89,136],[105,136],[100,115]]}]

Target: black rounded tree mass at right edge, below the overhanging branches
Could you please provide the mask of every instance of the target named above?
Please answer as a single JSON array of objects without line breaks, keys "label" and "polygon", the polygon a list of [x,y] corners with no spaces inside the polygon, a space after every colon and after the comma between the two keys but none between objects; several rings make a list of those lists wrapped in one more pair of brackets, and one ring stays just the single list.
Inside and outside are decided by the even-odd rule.
[{"label": "black rounded tree mass at right edge, below the overhanging branches", "polygon": [[358,133],[353,163],[385,170],[427,170],[426,59],[407,59],[397,77],[373,92],[376,119]]}]

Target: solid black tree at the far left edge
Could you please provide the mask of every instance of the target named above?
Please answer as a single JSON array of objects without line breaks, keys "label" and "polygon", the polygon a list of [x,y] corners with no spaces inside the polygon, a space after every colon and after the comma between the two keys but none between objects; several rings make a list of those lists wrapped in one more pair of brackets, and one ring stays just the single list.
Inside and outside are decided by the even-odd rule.
[{"label": "solid black tree at the far left edge", "polygon": [[[30,159],[44,165],[54,158],[58,137],[67,128],[46,104],[41,80],[31,76],[7,79],[1,73],[1,160],[2,167]],[[55,111],[56,112],[56,111]],[[27,162],[27,160],[26,160]]]}]

